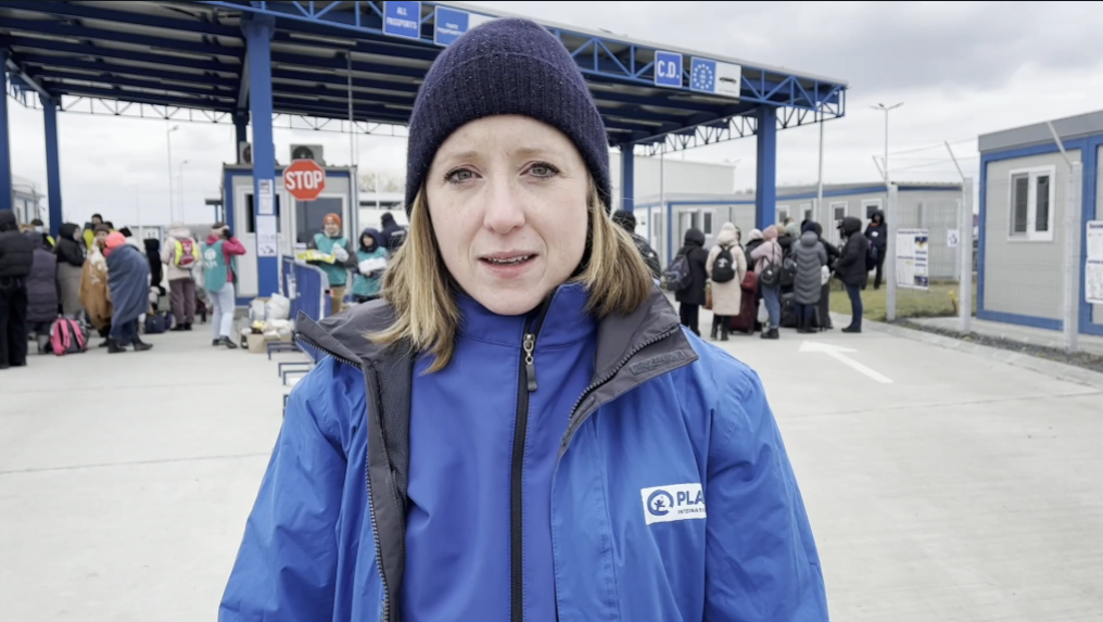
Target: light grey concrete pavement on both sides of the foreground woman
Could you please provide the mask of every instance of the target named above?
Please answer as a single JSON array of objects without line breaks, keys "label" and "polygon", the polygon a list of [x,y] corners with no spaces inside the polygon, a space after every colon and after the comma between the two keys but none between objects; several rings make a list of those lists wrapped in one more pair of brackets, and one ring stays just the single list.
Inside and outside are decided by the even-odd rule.
[{"label": "light grey concrete pavement on both sides of the foreground woman", "polygon": [[[0,619],[214,619],[283,387],[200,328],[0,373]],[[876,330],[722,346],[767,386],[833,620],[1103,620],[1099,389]]]}]

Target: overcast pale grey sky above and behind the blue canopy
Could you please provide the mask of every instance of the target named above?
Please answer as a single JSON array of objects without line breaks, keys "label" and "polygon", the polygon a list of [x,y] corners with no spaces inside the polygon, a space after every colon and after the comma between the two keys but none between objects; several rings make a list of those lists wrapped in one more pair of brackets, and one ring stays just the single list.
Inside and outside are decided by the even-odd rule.
[{"label": "overcast pale grey sky above and behind the blue canopy", "polygon": [[[871,157],[884,150],[891,112],[893,179],[956,181],[949,140],[967,172],[977,168],[976,136],[1103,108],[1103,6],[1081,2],[478,2],[493,10],[604,29],[647,41],[785,66],[849,83],[847,115],[825,126],[826,183],[878,179]],[[12,167],[45,189],[42,114],[9,99]],[[101,212],[117,224],[169,217],[165,122],[60,115],[66,219]],[[321,143],[326,160],[350,160],[347,135],[276,130],[288,146]],[[814,183],[816,126],[779,132],[780,183]],[[361,168],[401,171],[405,140],[361,137]],[[232,125],[181,124],[172,137],[173,175],[183,165],[189,221],[210,218],[223,161],[235,156]],[[682,156],[673,156],[681,158]],[[753,186],[754,139],[694,149],[685,159],[739,160],[737,184]]]}]

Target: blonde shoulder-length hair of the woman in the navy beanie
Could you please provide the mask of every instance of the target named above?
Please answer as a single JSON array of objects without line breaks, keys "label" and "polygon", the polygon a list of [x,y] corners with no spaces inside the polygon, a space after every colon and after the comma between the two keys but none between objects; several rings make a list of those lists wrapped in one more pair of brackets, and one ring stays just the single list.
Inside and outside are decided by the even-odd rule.
[{"label": "blonde shoulder-length hair of the woman in the navy beanie", "polygon": [[[589,233],[581,271],[567,282],[580,282],[589,292],[587,312],[598,319],[627,315],[651,293],[651,271],[632,237],[613,224],[606,205],[590,184]],[[383,297],[394,307],[394,323],[365,336],[381,345],[407,342],[415,352],[436,360],[428,373],[448,366],[456,348],[460,310],[459,286],[448,272],[433,235],[429,204],[422,189],[414,200],[409,234],[383,277]]]}]

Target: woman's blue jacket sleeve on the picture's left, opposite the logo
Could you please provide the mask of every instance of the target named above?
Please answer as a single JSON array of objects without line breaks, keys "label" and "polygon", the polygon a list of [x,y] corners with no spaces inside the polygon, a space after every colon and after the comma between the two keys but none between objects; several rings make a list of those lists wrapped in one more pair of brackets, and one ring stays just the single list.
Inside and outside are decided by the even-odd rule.
[{"label": "woman's blue jacket sleeve on the picture's left, opposite the logo", "polygon": [[336,523],[346,458],[322,392],[323,361],[291,392],[283,426],[245,525],[219,622],[331,620],[338,565]]}]

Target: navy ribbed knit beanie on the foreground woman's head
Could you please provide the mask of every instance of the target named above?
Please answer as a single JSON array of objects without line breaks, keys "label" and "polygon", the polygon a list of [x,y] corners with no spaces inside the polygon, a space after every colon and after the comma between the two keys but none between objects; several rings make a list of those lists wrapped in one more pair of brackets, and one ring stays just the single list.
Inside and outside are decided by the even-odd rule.
[{"label": "navy ribbed knit beanie on the foreground woman's head", "polygon": [[407,216],[441,143],[465,124],[495,115],[532,117],[567,135],[609,208],[609,139],[582,73],[544,26],[508,18],[460,36],[426,74],[410,116]]}]

